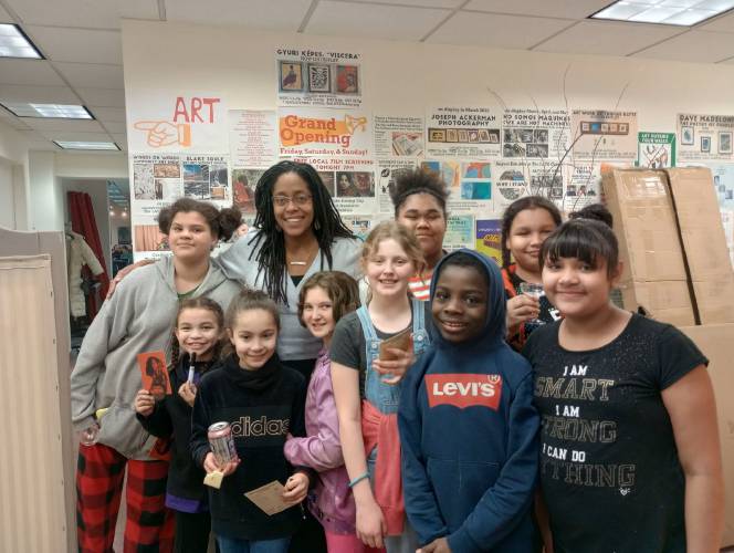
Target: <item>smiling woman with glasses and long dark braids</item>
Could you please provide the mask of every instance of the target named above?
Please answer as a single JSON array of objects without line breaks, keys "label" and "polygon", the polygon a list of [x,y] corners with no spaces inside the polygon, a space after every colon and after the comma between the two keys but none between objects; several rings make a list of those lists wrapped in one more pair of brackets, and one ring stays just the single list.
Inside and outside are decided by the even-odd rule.
[{"label": "smiling woman with glasses and long dark braids", "polygon": [[255,189],[253,228],[219,257],[226,274],[268,292],[281,309],[277,354],[308,378],[321,348],[298,322],[301,281],[318,271],[359,272],[360,243],[344,225],[316,169],[280,161]]}]

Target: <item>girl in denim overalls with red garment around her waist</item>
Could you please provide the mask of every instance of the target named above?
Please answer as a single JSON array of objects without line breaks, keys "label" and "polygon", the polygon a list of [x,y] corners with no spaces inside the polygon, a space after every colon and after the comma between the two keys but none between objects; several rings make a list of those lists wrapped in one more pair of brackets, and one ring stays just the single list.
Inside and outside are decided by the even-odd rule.
[{"label": "girl in denim overalls with red garment around her waist", "polygon": [[[397,411],[401,378],[429,343],[427,304],[408,293],[410,276],[423,268],[420,246],[405,227],[380,223],[367,237],[361,265],[370,298],[367,306],[338,322],[331,349],[357,535],[388,553],[413,553],[418,543],[405,517]],[[380,342],[406,330],[412,335],[412,348],[388,348],[380,359]]]}]

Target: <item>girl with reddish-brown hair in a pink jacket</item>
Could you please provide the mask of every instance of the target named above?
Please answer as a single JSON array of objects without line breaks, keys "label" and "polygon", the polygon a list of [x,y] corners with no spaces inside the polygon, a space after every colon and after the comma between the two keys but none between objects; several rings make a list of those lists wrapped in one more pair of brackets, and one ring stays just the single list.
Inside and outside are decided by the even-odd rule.
[{"label": "girl with reddish-brown hair in a pink jacket", "polygon": [[329,553],[360,553],[365,545],[355,532],[355,503],[349,477],[344,467],[339,444],[339,421],[332,388],[328,347],[336,323],[359,306],[357,282],[340,271],[319,272],[301,289],[298,317],[324,348],[306,395],[305,438],[289,438],[285,458],[292,465],[318,471],[318,480],[308,494],[308,508],[324,526]]}]

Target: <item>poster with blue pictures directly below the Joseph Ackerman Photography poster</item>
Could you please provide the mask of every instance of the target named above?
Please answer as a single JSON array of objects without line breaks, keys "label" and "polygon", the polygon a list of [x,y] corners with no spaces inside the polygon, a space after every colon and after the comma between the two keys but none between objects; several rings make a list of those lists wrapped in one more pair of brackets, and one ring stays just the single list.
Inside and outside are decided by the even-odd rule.
[{"label": "poster with blue pictures directly below the Joseph Ackerman Photography poster", "polygon": [[449,191],[454,213],[484,213],[494,208],[492,165],[489,161],[428,160],[420,167],[438,175]]}]

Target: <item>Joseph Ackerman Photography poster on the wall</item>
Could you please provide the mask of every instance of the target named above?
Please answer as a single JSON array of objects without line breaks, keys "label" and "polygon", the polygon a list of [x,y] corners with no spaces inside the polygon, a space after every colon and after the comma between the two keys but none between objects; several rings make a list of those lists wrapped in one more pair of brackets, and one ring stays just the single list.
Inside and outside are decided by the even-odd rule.
[{"label": "Joseph Ackerman Photography poster on the wall", "polygon": [[429,157],[500,156],[500,115],[490,107],[433,107],[426,131]]}]

